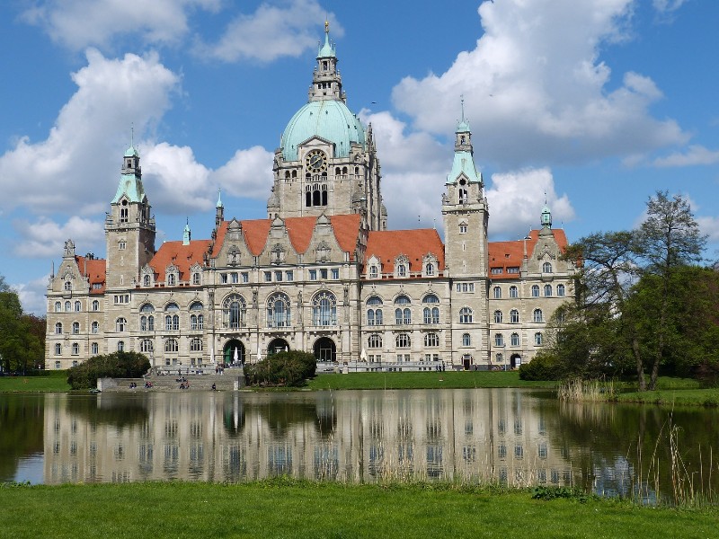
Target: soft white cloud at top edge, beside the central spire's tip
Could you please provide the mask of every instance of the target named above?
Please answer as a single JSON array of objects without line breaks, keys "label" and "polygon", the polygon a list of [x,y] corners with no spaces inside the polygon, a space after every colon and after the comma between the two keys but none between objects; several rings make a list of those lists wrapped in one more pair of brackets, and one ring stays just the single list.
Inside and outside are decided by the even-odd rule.
[{"label": "soft white cloud at top edge, beside the central spire's tip", "polygon": [[[298,57],[316,47],[317,21],[325,16],[326,10],[315,0],[294,0],[281,7],[261,4],[253,14],[239,15],[230,22],[217,43],[199,41],[195,52],[224,62]],[[342,36],[342,26],[330,19],[333,35]]]}]

